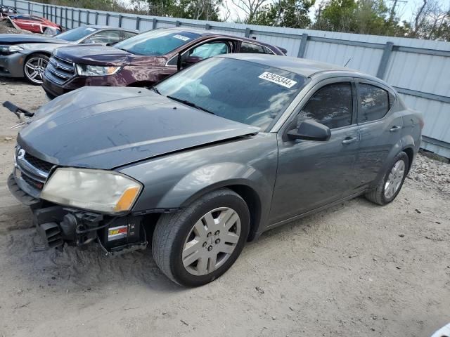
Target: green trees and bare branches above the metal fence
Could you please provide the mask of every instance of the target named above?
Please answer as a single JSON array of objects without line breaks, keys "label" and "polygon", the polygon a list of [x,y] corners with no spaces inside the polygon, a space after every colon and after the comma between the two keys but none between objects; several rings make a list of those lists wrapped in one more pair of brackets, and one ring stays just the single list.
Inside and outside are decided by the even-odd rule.
[{"label": "green trees and bare branches above the metal fence", "polygon": [[[219,21],[224,0],[37,0],[100,11],[139,13],[172,18]],[[245,12],[236,22],[275,27],[309,28],[332,32],[376,34],[450,41],[450,11],[438,0],[422,0],[411,22],[397,18],[396,2],[388,0],[321,0],[314,22],[309,11],[315,0],[229,0]]]}]

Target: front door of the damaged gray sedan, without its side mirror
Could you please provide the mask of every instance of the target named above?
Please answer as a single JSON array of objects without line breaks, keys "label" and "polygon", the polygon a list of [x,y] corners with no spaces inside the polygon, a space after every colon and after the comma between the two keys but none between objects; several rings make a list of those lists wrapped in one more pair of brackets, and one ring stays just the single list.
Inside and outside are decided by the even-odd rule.
[{"label": "front door of the damaged gray sedan, without its side mirror", "polygon": [[[311,91],[310,91],[311,93]],[[321,81],[307,103],[290,121],[297,126],[314,119],[328,126],[328,141],[289,140],[278,134],[278,171],[271,223],[306,213],[346,197],[356,188],[356,89],[351,78]]]}]

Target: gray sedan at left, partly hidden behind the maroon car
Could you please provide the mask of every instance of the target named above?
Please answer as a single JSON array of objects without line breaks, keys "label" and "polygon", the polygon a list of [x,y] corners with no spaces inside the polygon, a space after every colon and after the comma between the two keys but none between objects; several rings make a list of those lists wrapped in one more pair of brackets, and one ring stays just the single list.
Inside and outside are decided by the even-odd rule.
[{"label": "gray sedan at left, partly hidden behind the maroon car", "polygon": [[70,44],[114,44],[136,34],[139,32],[132,29],[94,25],[70,29],[55,37],[0,34],[0,76],[25,77],[40,85],[55,48]]}]

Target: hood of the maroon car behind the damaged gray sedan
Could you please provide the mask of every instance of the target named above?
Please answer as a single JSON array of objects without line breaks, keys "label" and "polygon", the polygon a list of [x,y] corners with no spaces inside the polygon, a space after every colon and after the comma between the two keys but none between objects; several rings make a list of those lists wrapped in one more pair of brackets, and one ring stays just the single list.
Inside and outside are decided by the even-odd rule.
[{"label": "hood of the maroon car behind the damaged gray sedan", "polygon": [[101,44],[58,48],[54,55],[82,65],[128,65],[131,53]]}]

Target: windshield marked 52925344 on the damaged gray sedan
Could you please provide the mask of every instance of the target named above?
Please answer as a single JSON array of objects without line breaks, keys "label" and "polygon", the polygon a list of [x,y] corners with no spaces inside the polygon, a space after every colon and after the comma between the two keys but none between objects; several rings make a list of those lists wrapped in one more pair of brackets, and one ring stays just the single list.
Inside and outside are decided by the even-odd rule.
[{"label": "windshield marked 52925344 on the damaged gray sedan", "polygon": [[307,80],[300,74],[255,62],[208,58],[155,88],[161,95],[266,131]]}]

